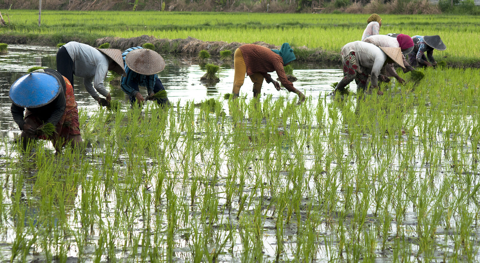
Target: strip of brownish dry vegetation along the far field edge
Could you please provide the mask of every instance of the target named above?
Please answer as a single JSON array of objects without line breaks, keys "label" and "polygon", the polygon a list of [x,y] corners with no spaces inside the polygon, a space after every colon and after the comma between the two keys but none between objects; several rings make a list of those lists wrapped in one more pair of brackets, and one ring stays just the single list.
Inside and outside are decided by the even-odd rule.
[{"label": "strip of brownish dry vegetation along the far field edge", "polygon": [[[37,9],[38,0],[0,0],[0,9]],[[480,14],[473,0],[43,0],[43,10],[347,12]]]}]

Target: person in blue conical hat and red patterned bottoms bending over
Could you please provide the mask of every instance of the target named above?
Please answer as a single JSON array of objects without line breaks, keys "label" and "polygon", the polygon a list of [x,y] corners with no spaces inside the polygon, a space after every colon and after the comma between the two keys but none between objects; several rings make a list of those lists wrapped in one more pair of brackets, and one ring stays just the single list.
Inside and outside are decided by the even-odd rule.
[{"label": "person in blue conical hat and red patterned bottoms bending over", "polygon": [[[24,75],[12,84],[9,96],[13,120],[22,130],[24,149],[31,139],[52,140],[57,152],[67,142],[73,146],[82,144],[73,88],[59,72],[43,69]],[[56,126],[50,137],[36,131],[47,122]]]}]

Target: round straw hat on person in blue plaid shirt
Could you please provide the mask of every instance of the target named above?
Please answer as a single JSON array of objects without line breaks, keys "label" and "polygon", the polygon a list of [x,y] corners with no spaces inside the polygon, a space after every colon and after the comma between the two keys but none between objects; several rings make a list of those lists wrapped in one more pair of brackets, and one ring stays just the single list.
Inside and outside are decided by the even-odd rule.
[{"label": "round straw hat on person in blue plaid shirt", "polygon": [[153,75],[165,69],[165,60],[152,49],[139,48],[128,52],[125,63],[134,72]]}]

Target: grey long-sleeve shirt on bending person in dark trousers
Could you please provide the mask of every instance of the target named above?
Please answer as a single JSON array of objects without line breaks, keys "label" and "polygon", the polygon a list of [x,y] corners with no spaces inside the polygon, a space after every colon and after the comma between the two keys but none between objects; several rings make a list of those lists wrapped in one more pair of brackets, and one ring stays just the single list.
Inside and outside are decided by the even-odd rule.
[{"label": "grey long-sleeve shirt on bending person in dark trousers", "polygon": [[85,89],[90,96],[95,99],[98,97],[95,90],[107,96],[108,90],[103,85],[108,72],[107,56],[93,47],[75,41],[68,42],[63,47],[73,60],[73,74],[84,78]]}]

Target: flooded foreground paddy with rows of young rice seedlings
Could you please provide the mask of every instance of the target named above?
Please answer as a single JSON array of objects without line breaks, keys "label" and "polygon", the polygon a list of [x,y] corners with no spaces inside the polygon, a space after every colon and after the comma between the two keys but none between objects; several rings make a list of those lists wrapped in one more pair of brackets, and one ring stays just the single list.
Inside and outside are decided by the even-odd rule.
[{"label": "flooded foreground paddy with rows of young rice seedlings", "polygon": [[0,57],[2,262],[480,259],[478,70],[340,100],[327,94],[341,70],[297,64],[298,106],[265,83],[255,101],[249,78],[246,99],[224,100],[231,63],[205,85],[191,58],[166,58],[171,108],[132,109],[110,86],[111,112],[75,79],[86,150],[20,153],[10,84],[55,54]]}]

